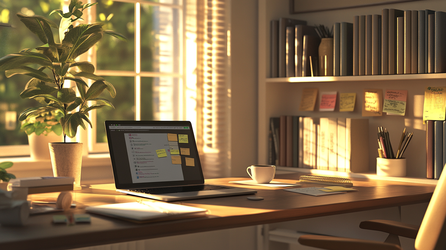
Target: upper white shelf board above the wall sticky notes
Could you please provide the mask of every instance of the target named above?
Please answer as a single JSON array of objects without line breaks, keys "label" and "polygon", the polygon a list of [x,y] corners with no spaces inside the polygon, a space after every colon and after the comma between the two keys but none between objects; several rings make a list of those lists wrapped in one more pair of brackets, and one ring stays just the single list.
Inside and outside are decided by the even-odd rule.
[{"label": "upper white shelf board above the wall sticky notes", "polygon": [[315,77],[277,77],[266,78],[267,83],[308,83],[308,82],[349,82],[382,80],[419,80],[446,79],[446,73],[413,75],[349,75],[349,76],[315,76]]}]

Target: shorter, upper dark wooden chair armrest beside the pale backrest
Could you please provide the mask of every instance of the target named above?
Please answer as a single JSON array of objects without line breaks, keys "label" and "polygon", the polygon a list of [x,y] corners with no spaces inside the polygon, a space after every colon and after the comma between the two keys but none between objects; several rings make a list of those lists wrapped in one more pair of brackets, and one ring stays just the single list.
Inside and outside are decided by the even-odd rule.
[{"label": "shorter, upper dark wooden chair armrest beside the pale backrest", "polygon": [[410,225],[398,221],[370,220],[359,224],[362,229],[376,230],[384,233],[395,234],[414,239],[417,237],[419,226]]}]

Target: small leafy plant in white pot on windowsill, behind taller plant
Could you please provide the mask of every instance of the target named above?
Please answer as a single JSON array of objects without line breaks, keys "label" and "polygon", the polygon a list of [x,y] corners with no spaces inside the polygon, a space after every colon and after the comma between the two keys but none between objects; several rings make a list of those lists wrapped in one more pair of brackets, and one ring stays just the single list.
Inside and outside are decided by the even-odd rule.
[{"label": "small leafy plant in white pot on windowsill, behind taller plant", "polygon": [[50,159],[48,143],[62,142],[62,112],[45,112],[36,117],[28,117],[20,127],[28,135],[29,154],[34,160]]}]

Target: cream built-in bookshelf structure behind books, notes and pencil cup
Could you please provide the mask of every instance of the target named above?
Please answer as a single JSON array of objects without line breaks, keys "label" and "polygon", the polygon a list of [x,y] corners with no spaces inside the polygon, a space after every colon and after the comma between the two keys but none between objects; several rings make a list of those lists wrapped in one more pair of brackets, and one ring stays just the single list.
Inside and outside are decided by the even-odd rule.
[{"label": "cream built-in bookshelf structure behind books, notes and pencil cup", "polygon": [[[414,132],[413,139],[405,152],[408,158],[407,177],[401,181],[418,182],[425,179],[426,152],[425,152],[425,125],[422,124],[422,112],[425,86],[446,86],[446,73],[441,74],[412,74],[412,75],[366,75],[366,76],[335,76],[335,77],[289,77],[269,78],[269,46],[270,21],[280,17],[306,20],[309,25],[323,24],[331,26],[335,22],[353,22],[355,15],[380,14],[383,8],[396,8],[402,10],[432,9],[446,12],[443,0],[423,0],[399,4],[385,4],[363,8],[351,8],[324,12],[302,14],[289,14],[289,0],[259,0],[258,18],[258,162],[268,162],[268,131],[269,118],[280,115],[306,116],[306,117],[350,117],[369,119],[369,172],[360,173],[355,177],[380,178],[374,175],[376,171],[377,153],[377,127],[386,127],[390,133],[392,145],[399,142],[404,127]],[[321,91],[356,92],[354,112],[319,112],[318,104],[314,112],[299,112],[301,91],[307,87],[317,87]],[[361,108],[364,88],[401,89],[408,90],[406,115],[404,117],[391,116],[383,113],[382,117],[362,117]],[[339,105],[339,100],[338,104]],[[321,174],[320,170],[309,170],[292,167],[279,167],[286,171],[306,171]],[[328,171],[322,174],[347,176],[346,173]],[[349,175],[352,176],[353,175]],[[397,177],[394,177],[398,179]],[[423,180],[424,181],[424,180]],[[429,183],[436,183],[432,181]]]}]

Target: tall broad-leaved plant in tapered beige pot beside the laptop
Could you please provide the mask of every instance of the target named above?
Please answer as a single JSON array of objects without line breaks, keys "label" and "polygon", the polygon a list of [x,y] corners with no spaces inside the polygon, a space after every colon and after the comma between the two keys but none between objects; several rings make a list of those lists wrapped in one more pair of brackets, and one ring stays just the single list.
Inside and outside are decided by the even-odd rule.
[{"label": "tall broad-leaved plant in tapered beige pot beside the laptop", "polygon": [[[58,122],[62,127],[64,142],[50,143],[53,172],[56,176],[74,177],[77,185],[80,183],[82,143],[66,143],[66,136],[73,138],[78,126],[87,129],[84,121],[92,127],[88,118],[90,110],[107,106],[114,108],[110,101],[98,96],[107,90],[114,98],[116,92],[111,83],[94,74],[93,64],[77,62],[76,58],[99,42],[104,34],[127,41],[120,33],[102,29],[101,23],[74,26],[74,22],[82,17],[83,10],[95,4],[71,0],[68,12],[54,10],[50,15],[58,14],[61,17],[60,25],[46,17],[17,13],[20,21],[37,35],[43,45],[0,58],[0,71],[5,71],[6,77],[17,74],[32,77],[20,96],[34,99],[41,104],[23,111],[19,121],[38,117],[46,112],[60,113]],[[52,28],[58,29],[58,39],[54,39]],[[36,64],[39,67],[28,66]],[[88,86],[83,78],[94,82]],[[66,86],[66,80],[73,81],[75,86]],[[89,106],[87,101],[95,101],[96,104]]]}]

